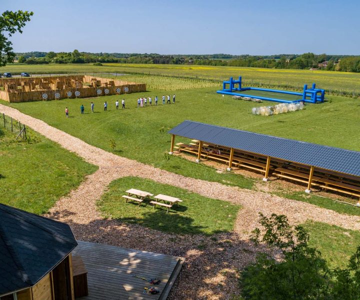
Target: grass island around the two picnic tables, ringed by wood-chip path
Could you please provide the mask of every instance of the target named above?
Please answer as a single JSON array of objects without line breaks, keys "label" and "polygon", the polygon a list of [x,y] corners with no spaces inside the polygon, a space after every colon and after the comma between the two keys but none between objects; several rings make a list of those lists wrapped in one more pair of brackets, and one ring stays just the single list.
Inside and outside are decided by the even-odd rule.
[{"label": "grass island around the two picnic tables, ringed by wood-chip path", "polygon": [[[121,197],[129,188],[145,190],[155,195],[167,194],[178,197],[183,202],[178,206],[173,205],[168,213],[158,206],[153,209],[148,200],[138,207],[137,202],[126,203]],[[240,206],[226,201],[206,198],[179,187],[139,177],[123,177],[112,181],[97,206],[103,217],[178,234],[230,231],[240,209]]]}]

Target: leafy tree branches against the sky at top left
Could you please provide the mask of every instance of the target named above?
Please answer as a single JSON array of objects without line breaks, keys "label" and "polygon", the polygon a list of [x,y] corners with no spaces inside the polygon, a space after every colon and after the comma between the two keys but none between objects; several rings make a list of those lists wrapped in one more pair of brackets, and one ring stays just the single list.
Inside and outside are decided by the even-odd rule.
[{"label": "leafy tree branches against the sky at top left", "polygon": [[12,42],[8,37],[15,32],[22,33],[21,28],[30,20],[32,11],[4,11],[0,16],[0,66],[12,62],[15,53],[12,51]]}]

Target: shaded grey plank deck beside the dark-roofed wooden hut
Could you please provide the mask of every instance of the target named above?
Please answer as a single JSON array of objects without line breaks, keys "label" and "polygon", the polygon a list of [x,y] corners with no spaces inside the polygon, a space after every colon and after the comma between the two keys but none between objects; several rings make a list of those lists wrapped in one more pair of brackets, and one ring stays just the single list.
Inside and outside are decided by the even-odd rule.
[{"label": "shaded grey plank deck beside the dark-roofed wooden hut", "polygon": [[[81,255],[88,271],[88,295],[81,300],[166,299],[184,258],[153,252],[77,241],[73,255]],[[159,278],[159,285],[133,277]],[[144,294],[143,288],[155,286],[160,292]]]}]

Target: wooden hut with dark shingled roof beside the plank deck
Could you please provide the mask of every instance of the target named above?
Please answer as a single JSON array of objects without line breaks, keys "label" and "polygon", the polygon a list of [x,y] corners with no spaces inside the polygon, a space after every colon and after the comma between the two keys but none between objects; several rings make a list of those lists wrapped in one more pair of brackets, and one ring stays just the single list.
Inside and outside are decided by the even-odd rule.
[{"label": "wooden hut with dark shingled roof beside the plank deck", "polygon": [[0,204],[0,300],[74,299],[70,227]]}]

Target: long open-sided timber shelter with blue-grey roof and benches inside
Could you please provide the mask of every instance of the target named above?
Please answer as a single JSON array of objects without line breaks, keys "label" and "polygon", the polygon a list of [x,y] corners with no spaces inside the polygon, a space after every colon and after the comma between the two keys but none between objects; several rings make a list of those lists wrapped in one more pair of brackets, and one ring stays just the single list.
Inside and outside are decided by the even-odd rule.
[{"label": "long open-sided timber shelter with blue-grey roof and benches inside", "polygon": [[[201,158],[291,179],[311,187],[360,197],[360,152],[185,120],[168,131],[170,153],[177,149]],[[175,136],[192,139],[176,143]]]}]

